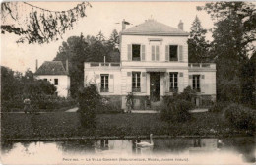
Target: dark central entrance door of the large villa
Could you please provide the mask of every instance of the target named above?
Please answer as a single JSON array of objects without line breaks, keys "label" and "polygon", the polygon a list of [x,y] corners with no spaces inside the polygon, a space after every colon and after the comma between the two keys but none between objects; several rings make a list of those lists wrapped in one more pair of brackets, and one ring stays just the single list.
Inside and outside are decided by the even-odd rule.
[{"label": "dark central entrance door of the large villa", "polygon": [[160,73],[150,74],[151,100],[160,101]]}]

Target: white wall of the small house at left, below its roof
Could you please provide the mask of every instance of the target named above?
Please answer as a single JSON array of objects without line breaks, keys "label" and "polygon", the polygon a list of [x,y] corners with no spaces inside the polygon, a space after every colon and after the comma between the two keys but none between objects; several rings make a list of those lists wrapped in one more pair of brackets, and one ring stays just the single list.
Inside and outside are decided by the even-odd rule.
[{"label": "white wall of the small house at left, below its roof", "polygon": [[58,96],[68,97],[70,89],[70,77],[65,75],[40,75],[36,76],[36,79],[47,79],[48,82],[54,84],[54,79],[58,79],[58,85],[54,85],[57,88]]}]

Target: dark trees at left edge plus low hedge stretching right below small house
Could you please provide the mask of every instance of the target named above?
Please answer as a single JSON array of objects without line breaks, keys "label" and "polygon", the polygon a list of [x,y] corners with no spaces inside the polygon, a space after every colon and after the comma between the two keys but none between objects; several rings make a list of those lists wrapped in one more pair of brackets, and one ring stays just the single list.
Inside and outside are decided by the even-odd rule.
[{"label": "dark trees at left edge plus low hedge stretching right below small house", "polygon": [[26,97],[31,99],[33,111],[55,110],[76,104],[73,99],[55,96],[55,92],[53,84],[34,79],[30,70],[23,76],[1,66],[1,111],[22,110]]}]

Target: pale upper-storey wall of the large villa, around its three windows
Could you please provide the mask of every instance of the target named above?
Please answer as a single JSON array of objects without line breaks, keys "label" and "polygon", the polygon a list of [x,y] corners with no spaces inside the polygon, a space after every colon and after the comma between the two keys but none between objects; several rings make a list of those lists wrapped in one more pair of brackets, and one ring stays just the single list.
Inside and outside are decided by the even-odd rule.
[{"label": "pale upper-storey wall of the large villa, around its three windows", "polygon": [[[152,41],[152,40],[160,41]],[[128,61],[128,45],[129,44],[141,44],[145,45],[145,60],[141,61]],[[160,46],[160,60],[152,61],[152,45]],[[182,47],[182,58],[178,61],[165,60],[165,46],[166,45],[178,45]],[[178,49],[178,52],[181,51]],[[179,54],[178,54],[179,55]],[[143,35],[122,35],[121,44],[121,62],[122,67],[126,66],[187,66],[188,62],[188,46],[187,36],[143,36]]]}]

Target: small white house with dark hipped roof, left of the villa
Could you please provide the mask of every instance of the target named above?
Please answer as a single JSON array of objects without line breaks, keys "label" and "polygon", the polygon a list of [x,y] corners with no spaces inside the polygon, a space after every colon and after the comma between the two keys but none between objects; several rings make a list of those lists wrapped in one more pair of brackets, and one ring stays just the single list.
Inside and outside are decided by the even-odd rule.
[{"label": "small white house with dark hipped roof, left of the villa", "polygon": [[[66,63],[68,65],[68,63]],[[38,80],[45,80],[57,88],[56,95],[68,97],[70,92],[70,77],[68,67],[64,68],[61,61],[45,61],[34,73]]]}]

